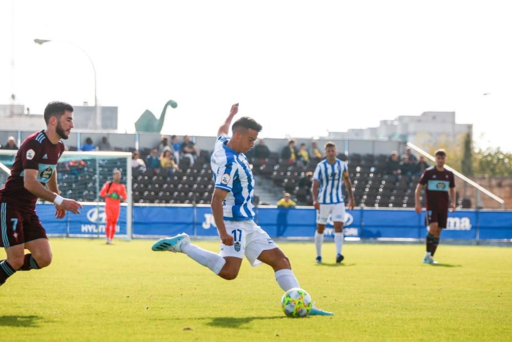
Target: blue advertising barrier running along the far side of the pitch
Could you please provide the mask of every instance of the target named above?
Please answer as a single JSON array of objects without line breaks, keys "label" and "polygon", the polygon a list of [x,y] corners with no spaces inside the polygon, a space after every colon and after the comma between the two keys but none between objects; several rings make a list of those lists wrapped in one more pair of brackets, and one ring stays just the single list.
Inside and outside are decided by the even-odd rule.
[{"label": "blue advertising barrier running along the far side of the pitch", "polygon": [[[54,217],[53,205],[37,205],[37,213],[49,234],[104,234],[102,206],[84,206],[81,214]],[[96,217],[99,220],[96,223]],[[312,237],[316,213],[313,208],[281,209],[260,207],[258,224],[272,237]],[[425,212],[411,209],[355,209],[347,211],[345,236],[359,238],[424,238]],[[126,207],[121,207],[119,234],[126,234]],[[209,206],[134,206],[133,234],[174,235],[185,232],[196,236],[217,236]],[[333,236],[328,225],[326,236]],[[449,239],[512,239],[512,211],[460,210],[449,213],[447,229],[442,234]]]}]

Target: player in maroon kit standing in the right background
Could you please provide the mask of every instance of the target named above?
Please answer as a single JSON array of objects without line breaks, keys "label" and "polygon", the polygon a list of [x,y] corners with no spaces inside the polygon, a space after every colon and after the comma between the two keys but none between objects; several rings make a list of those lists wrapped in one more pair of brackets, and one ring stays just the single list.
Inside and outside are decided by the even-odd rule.
[{"label": "player in maroon kit standing in the right background", "polygon": [[448,219],[449,197],[452,199],[452,212],[455,211],[455,177],[452,171],[444,168],[446,163],[446,152],[442,149],[436,151],[436,165],[425,169],[418,186],[416,187],[415,203],[416,212],[421,213],[419,196],[426,185],[426,224],[429,226],[429,233],[426,235],[426,252],[423,263],[437,264],[434,261],[434,253],[439,245],[441,230],[446,228]]}]

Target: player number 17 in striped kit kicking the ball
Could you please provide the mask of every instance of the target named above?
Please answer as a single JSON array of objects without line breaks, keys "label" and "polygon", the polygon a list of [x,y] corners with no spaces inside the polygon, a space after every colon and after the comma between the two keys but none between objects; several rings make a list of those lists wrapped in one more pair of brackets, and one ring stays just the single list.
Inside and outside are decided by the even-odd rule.
[{"label": "player number 17 in striped kit kicking the ball", "polygon": [[[229,116],[219,128],[215,151],[211,156],[215,180],[211,211],[222,242],[220,253],[212,253],[193,245],[185,233],[160,239],[152,249],[185,253],[227,280],[237,277],[245,255],[252,266],[261,263],[271,266],[279,286],[288,291],[300,287],[291,270],[290,261],[270,236],[253,221],[254,176],[244,153],[254,147],[262,127],[250,117],[241,117],[231,127],[232,136],[227,136],[231,120],[237,112],[238,104],[231,107]],[[332,313],[312,308],[310,315]]]}]

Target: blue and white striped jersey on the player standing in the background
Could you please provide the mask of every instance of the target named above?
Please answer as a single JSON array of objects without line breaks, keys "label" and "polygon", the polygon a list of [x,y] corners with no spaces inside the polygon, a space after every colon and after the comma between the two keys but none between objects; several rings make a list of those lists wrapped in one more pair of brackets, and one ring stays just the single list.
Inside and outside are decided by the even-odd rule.
[{"label": "blue and white striped jersey on the player standing in the background", "polygon": [[334,164],[327,159],[316,165],[313,180],[320,182],[318,202],[320,204],[343,203],[343,174],[348,172],[348,166],[343,160],[336,158]]}]

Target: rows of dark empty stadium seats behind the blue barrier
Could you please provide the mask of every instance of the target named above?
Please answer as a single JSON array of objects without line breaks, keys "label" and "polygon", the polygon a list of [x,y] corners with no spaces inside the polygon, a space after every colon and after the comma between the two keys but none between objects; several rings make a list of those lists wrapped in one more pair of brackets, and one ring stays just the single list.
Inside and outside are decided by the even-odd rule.
[{"label": "rows of dark empty stadium seats behind the blue barrier", "polygon": [[[150,149],[141,151],[141,158],[150,153]],[[214,187],[209,163],[210,151],[201,151],[193,165],[188,158],[179,163],[179,170],[171,174],[160,169],[133,170],[132,196],[133,203],[156,204],[210,204]],[[406,208],[414,207],[414,190],[418,182],[417,176],[399,177],[384,174],[387,155],[344,154],[338,158],[347,160],[355,205],[375,208]],[[298,183],[306,172],[314,171],[316,163],[310,162],[307,167],[302,165],[289,166],[280,163],[278,154],[263,161],[252,159],[252,171],[255,175],[269,179],[277,189],[292,194],[299,205],[312,205],[311,192],[298,187]],[[63,195],[81,202],[96,200],[96,174],[99,175],[99,187],[109,180],[114,168],[123,165],[117,160],[105,160],[98,166],[72,165],[59,163],[60,190]],[[123,172],[123,177],[126,173]],[[125,182],[125,178],[123,179]],[[85,186],[79,186],[85,184]],[[275,189],[274,188],[274,189]],[[258,188],[257,188],[258,189]],[[347,194],[345,194],[347,195]]]}]

